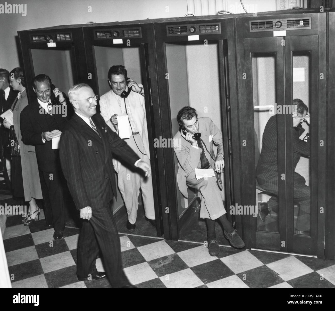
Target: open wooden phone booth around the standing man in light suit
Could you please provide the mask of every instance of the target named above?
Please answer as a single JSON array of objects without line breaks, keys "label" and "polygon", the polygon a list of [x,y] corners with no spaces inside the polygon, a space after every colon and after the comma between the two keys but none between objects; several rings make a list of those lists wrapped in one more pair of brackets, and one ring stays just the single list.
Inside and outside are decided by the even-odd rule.
[{"label": "open wooden phone booth around the standing man in light suit", "polygon": [[[88,67],[89,84],[96,95],[102,96],[111,91],[108,81],[108,71],[113,65],[123,65],[127,69],[128,78],[141,83],[144,89],[145,111],[147,119],[148,139],[150,154],[148,158],[151,162],[151,179],[154,196],[154,209],[157,227],[156,230],[147,222],[141,225],[138,221],[144,221],[137,212],[136,229],[134,234],[161,236],[162,210],[159,181],[159,163],[156,150],[153,148],[153,140],[159,136],[159,110],[156,95],[156,73],[154,56],[154,36],[152,23],[142,24],[113,23],[92,24],[83,27],[85,53]],[[99,109],[98,109],[99,111]],[[158,122],[157,122],[158,121]],[[136,148],[136,147],[135,147]],[[140,150],[141,151],[141,150]],[[143,151],[143,150],[142,150]],[[118,183],[116,183],[118,184]],[[117,190],[117,198],[113,199],[113,212],[116,222],[121,232],[126,230],[126,209],[123,206],[123,198]],[[143,196],[142,196],[143,198]],[[145,202],[143,202],[145,204]],[[143,210],[143,205],[139,207]],[[143,218],[143,219],[142,219]]]}]

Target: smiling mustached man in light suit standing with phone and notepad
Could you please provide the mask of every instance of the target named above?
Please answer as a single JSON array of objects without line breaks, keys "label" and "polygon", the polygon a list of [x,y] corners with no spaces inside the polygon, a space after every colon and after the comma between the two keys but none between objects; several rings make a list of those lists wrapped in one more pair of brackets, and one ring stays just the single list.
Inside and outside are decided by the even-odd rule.
[{"label": "smiling mustached man in light suit standing with phone and notepad", "polygon": [[[150,164],[143,86],[129,79],[127,70],[122,65],[109,69],[108,82],[111,90],[102,95],[99,101],[101,115],[106,124],[124,138],[140,159]],[[136,227],[140,188],[145,216],[150,224],[156,227],[152,179],[144,177],[132,167],[122,165],[116,159],[113,159],[113,165],[127,209],[127,229],[134,231]]]}]

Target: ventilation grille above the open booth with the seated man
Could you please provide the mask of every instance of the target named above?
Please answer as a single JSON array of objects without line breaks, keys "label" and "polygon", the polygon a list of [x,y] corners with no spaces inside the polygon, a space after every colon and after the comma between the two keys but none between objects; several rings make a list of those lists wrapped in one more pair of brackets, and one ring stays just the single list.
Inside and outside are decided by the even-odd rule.
[{"label": "ventilation grille above the open booth with the seated man", "polygon": [[[192,32],[191,32],[191,30]],[[187,24],[166,26],[167,36],[192,36],[202,34],[220,34],[220,24]]]}]

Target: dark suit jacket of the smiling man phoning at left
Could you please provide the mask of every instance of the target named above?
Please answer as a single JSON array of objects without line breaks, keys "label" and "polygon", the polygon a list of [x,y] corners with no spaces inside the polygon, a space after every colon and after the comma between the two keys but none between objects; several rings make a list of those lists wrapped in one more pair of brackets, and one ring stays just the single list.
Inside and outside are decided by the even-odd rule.
[{"label": "dark suit jacket of the smiling man phoning at left", "polygon": [[[53,106],[58,100],[55,99]],[[61,106],[59,106],[61,107]],[[54,172],[60,169],[58,149],[52,149],[52,140],[42,141],[43,132],[60,130],[63,132],[67,119],[62,115],[61,109],[53,109],[53,115],[47,114],[38,103],[37,98],[20,115],[22,141],[26,145],[36,147],[36,157],[39,169],[43,172]]]}]

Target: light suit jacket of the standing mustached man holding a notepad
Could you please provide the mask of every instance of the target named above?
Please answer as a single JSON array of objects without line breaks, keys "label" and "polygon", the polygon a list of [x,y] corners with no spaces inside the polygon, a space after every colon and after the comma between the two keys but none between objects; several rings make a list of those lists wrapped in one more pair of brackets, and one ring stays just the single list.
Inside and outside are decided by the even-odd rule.
[{"label": "light suit jacket of the standing mustached man holding a notepad", "polygon": [[[139,84],[142,86],[141,84]],[[116,132],[112,122],[111,117],[114,114],[122,115],[122,110],[118,103],[118,96],[114,94],[112,90],[100,97],[100,113],[103,116],[106,124],[111,128],[113,132]],[[121,98],[121,105],[124,105],[124,99]],[[145,104],[144,97],[137,92],[131,91],[126,98],[126,105],[129,105],[132,119],[136,124],[137,131],[139,132],[145,153],[150,160],[150,150],[149,150],[149,139],[148,139],[148,129],[145,114]],[[113,159],[114,169],[118,173],[120,169],[120,162]]]}]

